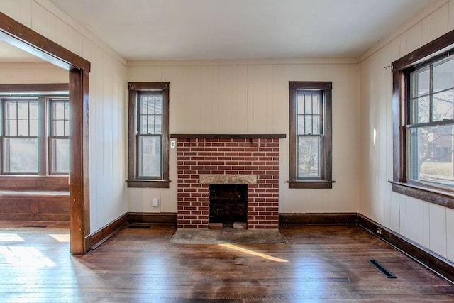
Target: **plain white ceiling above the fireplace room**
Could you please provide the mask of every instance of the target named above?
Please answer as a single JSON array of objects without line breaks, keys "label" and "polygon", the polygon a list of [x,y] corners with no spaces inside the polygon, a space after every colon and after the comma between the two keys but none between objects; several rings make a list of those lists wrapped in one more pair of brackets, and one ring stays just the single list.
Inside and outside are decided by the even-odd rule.
[{"label": "plain white ceiling above the fireplace room", "polygon": [[436,0],[50,0],[127,60],[358,57]]}]

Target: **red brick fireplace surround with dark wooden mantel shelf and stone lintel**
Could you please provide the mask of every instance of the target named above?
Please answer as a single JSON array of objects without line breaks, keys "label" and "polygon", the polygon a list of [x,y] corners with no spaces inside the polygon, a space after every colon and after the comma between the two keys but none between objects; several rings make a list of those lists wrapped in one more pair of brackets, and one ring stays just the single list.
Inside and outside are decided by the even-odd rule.
[{"label": "red brick fireplace surround with dark wooden mantel shelf and stone lintel", "polygon": [[279,226],[279,138],[171,135],[177,142],[178,228],[209,227],[209,184],[247,184],[247,228]]}]

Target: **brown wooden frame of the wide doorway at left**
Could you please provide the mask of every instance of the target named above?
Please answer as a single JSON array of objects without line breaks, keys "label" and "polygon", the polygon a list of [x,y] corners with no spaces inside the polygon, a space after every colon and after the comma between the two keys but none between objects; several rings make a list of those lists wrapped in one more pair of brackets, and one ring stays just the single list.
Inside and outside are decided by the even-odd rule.
[{"label": "brown wooden frame of the wide doorway at left", "polygon": [[0,12],[0,40],[69,70],[70,253],[91,247],[89,209],[90,62]]}]

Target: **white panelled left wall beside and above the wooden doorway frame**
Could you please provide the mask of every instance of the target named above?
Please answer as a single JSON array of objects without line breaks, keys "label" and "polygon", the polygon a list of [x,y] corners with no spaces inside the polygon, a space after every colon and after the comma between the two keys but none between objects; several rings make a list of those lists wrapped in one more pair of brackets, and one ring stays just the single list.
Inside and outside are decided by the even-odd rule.
[{"label": "white panelled left wall beside and above the wooden doorway frame", "polygon": [[126,212],[126,61],[48,0],[0,0],[0,11],[84,57],[90,74],[90,230]]}]

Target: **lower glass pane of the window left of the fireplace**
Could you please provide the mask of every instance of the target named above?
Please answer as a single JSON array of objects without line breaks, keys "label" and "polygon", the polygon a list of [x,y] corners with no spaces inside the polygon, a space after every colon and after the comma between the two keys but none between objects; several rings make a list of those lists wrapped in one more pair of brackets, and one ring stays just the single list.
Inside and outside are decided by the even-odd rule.
[{"label": "lower glass pane of the window left of the fireplace", "polygon": [[138,137],[138,177],[161,177],[161,136]]}]

